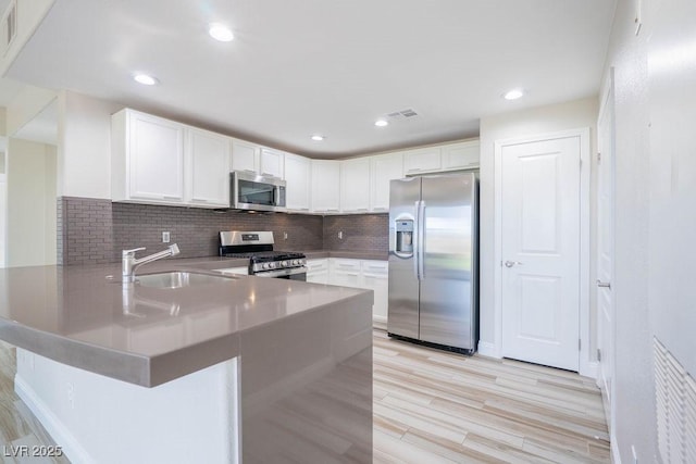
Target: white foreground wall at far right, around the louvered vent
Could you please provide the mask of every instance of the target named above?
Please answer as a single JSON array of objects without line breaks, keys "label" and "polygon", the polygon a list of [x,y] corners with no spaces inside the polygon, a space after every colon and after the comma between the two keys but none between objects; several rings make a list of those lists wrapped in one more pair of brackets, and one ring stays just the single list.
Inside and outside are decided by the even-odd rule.
[{"label": "white foreground wall at far right, around the louvered vent", "polygon": [[619,0],[616,88],[616,448],[658,462],[652,337],[696,376],[696,2]]}]

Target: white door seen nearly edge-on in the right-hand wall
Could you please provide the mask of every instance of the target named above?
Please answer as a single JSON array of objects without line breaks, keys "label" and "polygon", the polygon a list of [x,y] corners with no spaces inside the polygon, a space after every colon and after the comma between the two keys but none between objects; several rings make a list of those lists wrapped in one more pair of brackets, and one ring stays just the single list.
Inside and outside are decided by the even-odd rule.
[{"label": "white door seen nearly edge-on in the right-hand wall", "polygon": [[611,403],[613,398],[614,359],[614,305],[611,291],[613,276],[613,89],[602,102],[597,123],[599,159],[597,163],[597,354],[598,384],[607,413],[607,424],[612,428]]}]

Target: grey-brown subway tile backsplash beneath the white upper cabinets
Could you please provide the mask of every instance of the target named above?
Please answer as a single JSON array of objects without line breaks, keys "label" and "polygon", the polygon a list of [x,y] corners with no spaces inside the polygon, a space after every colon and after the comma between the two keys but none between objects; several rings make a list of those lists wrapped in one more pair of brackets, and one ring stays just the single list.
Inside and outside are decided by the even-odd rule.
[{"label": "grey-brown subway tile backsplash beneath the white upper cabinets", "polygon": [[[273,230],[276,250],[361,250],[387,252],[387,214],[313,216],[307,214],[215,212],[212,210],[58,199],[58,263],[102,264],[121,260],[121,250],[165,247],[162,233],[178,243],[181,258],[217,254],[220,230]],[[343,239],[338,239],[343,231]],[[284,239],[287,234],[287,239]]]}]

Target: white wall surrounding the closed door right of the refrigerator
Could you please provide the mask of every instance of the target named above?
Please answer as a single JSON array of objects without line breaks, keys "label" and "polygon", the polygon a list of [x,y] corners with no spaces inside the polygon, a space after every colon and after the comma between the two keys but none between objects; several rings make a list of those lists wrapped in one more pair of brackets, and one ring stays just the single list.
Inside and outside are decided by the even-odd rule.
[{"label": "white wall surrounding the closed door right of the refrigerator", "polygon": [[[514,103],[513,103],[514,104]],[[496,140],[522,138],[537,134],[547,134],[567,129],[589,127],[592,135],[592,152],[596,152],[596,122],[598,104],[597,98],[586,98],[567,103],[540,106],[531,110],[521,110],[495,116],[483,117],[481,120],[481,216],[480,247],[481,247],[481,341],[486,344],[496,344],[495,327],[495,302],[498,296],[495,294],[495,255],[496,242],[494,239],[495,227],[495,142]],[[593,156],[592,178],[596,177],[596,159]],[[596,183],[593,180],[591,205],[595,203]],[[593,206],[594,208],[594,206]],[[594,210],[593,210],[594,211]],[[595,214],[591,214],[592,217]],[[591,237],[595,237],[594,221]],[[592,239],[591,250],[595,249],[595,240]],[[594,253],[593,253],[594,255]],[[595,265],[591,262],[591,269],[594,273]],[[591,275],[591,278],[594,274]],[[591,281],[594,281],[591,280]],[[591,289],[594,292],[594,287]],[[593,293],[594,294],[594,293]],[[591,296],[591,302],[594,297]],[[592,342],[595,343],[595,306],[591,306],[591,334]],[[591,350],[595,352],[595,350]]]}]

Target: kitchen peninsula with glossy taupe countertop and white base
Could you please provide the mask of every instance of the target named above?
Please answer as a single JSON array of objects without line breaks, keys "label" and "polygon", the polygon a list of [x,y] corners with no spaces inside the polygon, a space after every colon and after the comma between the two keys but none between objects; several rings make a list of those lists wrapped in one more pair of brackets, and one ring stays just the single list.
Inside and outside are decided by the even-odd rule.
[{"label": "kitchen peninsula with glossy taupe countertop and white base", "polygon": [[234,261],[0,269],[15,390],[71,461],[372,462],[372,292]]}]

